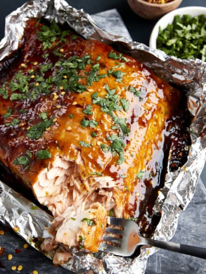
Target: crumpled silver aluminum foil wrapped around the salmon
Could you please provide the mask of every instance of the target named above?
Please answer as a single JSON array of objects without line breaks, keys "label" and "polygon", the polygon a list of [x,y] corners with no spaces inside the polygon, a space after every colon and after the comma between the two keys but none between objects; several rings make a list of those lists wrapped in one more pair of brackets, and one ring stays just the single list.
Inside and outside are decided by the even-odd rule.
[{"label": "crumpled silver aluminum foil wrapped around the salmon", "polygon": [[[98,39],[115,46],[121,52],[130,54],[151,68],[160,77],[174,83],[187,96],[188,109],[194,116],[190,126],[192,145],[188,161],[176,172],[167,174],[165,186],[156,201],[155,210],[162,211],[161,220],[154,238],[170,240],[177,228],[178,217],[191,201],[206,155],[206,63],[199,59],[181,60],[167,56],[164,52],[150,49],[144,44],[125,37],[115,36],[100,29],[83,10],[76,10],[64,0],[36,0],[26,2],[6,17],[5,37],[0,42],[0,60],[17,49],[22,41],[25,22],[31,17],[45,17],[57,22],[67,22],[85,38]],[[0,220],[9,224],[16,233],[32,246],[32,237],[46,238],[45,227],[52,219],[50,215],[0,182]],[[99,274],[144,274],[147,258],[156,248],[141,248],[141,254],[134,260],[111,254],[86,254],[73,249],[73,258],[64,268],[74,272],[92,270]],[[53,253],[45,254],[53,257]]]}]

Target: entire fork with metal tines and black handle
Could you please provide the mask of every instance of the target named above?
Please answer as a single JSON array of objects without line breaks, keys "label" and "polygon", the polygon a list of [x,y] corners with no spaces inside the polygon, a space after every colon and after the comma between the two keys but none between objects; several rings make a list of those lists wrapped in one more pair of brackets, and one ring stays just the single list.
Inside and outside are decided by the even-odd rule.
[{"label": "entire fork with metal tines and black handle", "polygon": [[142,237],[138,225],[132,220],[109,217],[103,243],[99,250],[118,256],[131,256],[140,245],[166,249],[206,259],[206,248],[182,245],[172,242],[158,241]]}]

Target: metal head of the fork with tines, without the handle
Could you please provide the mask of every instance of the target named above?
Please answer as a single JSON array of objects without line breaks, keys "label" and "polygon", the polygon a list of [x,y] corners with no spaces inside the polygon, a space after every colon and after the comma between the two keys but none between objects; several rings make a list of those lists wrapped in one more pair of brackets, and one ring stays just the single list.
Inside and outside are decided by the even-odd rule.
[{"label": "metal head of the fork with tines, without the handle", "polygon": [[138,245],[146,244],[134,221],[110,217],[109,223],[99,250],[128,257],[135,252]]}]

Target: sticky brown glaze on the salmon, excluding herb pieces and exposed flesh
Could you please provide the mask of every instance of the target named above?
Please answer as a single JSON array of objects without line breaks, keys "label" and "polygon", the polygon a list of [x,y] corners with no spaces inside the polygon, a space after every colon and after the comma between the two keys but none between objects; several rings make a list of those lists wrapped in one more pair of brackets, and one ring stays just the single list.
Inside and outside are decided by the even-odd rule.
[{"label": "sticky brown glaze on the salmon, excluding herb pieces and exposed flesh", "polygon": [[[140,232],[150,236],[160,219],[153,212],[154,202],[158,190],[163,187],[167,172],[168,158],[170,157],[170,169],[175,170],[182,166],[187,160],[187,147],[190,145],[190,137],[186,131],[188,121],[185,120],[185,103],[181,101],[178,90],[170,87],[165,81],[158,78],[153,72],[140,64],[137,60],[126,56],[128,62],[108,58],[111,47],[99,41],[84,40],[81,37],[73,39],[74,33],[66,36],[66,42],[52,45],[52,48],[42,50],[42,43],[37,39],[35,27],[36,21],[30,20],[24,31],[22,45],[11,59],[1,63],[0,86],[4,83],[8,90],[8,99],[0,96],[0,161],[27,186],[36,181],[36,176],[42,168],[46,167],[56,153],[72,156],[72,145],[81,150],[86,168],[82,168],[82,178],[87,178],[90,172],[101,172],[105,176],[111,176],[122,185],[119,199],[125,206],[124,217],[137,216]],[[56,56],[54,49],[63,52],[63,57]],[[60,51],[61,49],[61,51]],[[48,54],[43,58],[43,54]],[[106,76],[99,81],[94,81],[87,90],[75,93],[70,90],[60,89],[54,85],[48,94],[42,93],[35,100],[9,100],[12,91],[9,83],[16,72],[22,71],[23,75],[35,77],[29,79],[29,85],[36,85],[36,75],[42,64],[52,64],[52,68],[44,73],[44,80],[55,76],[54,64],[61,58],[68,59],[70,56],[82,58],[89,55],[92,64],[88,64],[82,74],[88,75],[95,63],[100,64],[100,73],[124,63],[116,70],[125,73],[122,82],[117,83],[114,77]],[[101,55],[99,61],[97,57]],[[9,61],[10,60],[10,61]],[[22,65],[23,64],[23,65]],[[33,70],[33,73],[29,73]],[[79,80],[86,85],[85,77]],[[113,121],[111,117],[100,111],[100,107],[92,105],[91,94],[95,91],[98,96],[106,95],[105,84],[110,89],[117,88],[116,94],[120,98],[127,98],[130,102],[128,112],[121,111],[121,118],[127,119],[130,134],[125,136],[124,157],[125,161],[117,164],[118,155],[112,156],[110,152],[104,152],[97,142],[100,141],[110,145],[107,136],[118,134],[118,130],[111,130]],[[135,97],[128,87],[133,86],[141,90],[141,99]],[[62,93],[63,92],[63,93]],[[18,93],[18,91],[17,91]],[[55,94],[58,98],[54,98]],[[85,106],[91,104],[93,116],[82,113]],[[12,109],[12,113],[6,119],[5,113]],[[27,110],[20,113],[20,110]],[[54,125],[44,131],[39,139],[30,139],[27,132],[30,127],[42,122],[39,113],[46,112],[48,119],[56,118]],[[73,115],[70,118],[69,115]],[[82,128],[81,120],[95,119],[98,126],[95,129]],[[13,119],[19,119],[20,123],[14,127],[5,126]],[[65,129],[71,127],[71,131]],[[91,137],[95,131],[97,137]],[[147,133],[147,134],[146,134]],[[154,138],[155,136],[155,138]],[[91,147],[81,147],[79,141],[83,140],[95,144]],[[38,159],[35,157],[39,149],[46,149],[52,155],[51,159]],[[32,153],[29,168],[25,170],[23,165],[14,165],[13,160],[20,155],[25,155],[26,150]],[[144,171],[143,178],[136,177],[139,171]],[[126,176],[126,177],[125,177]]]}]

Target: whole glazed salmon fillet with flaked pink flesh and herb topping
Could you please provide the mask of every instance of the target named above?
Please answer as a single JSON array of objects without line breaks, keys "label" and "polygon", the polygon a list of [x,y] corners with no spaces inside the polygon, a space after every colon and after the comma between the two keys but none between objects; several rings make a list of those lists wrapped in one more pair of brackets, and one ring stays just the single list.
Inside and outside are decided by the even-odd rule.
[{"label": "whole glazed salmon fillet with flaked pink flesh and herb topping", "polygon": [[36,20],[0,73],[0,161],[54,216],[42,249],[98,251],[108,215],[133,218],[157,185],[180,92],[111,46]]}]

